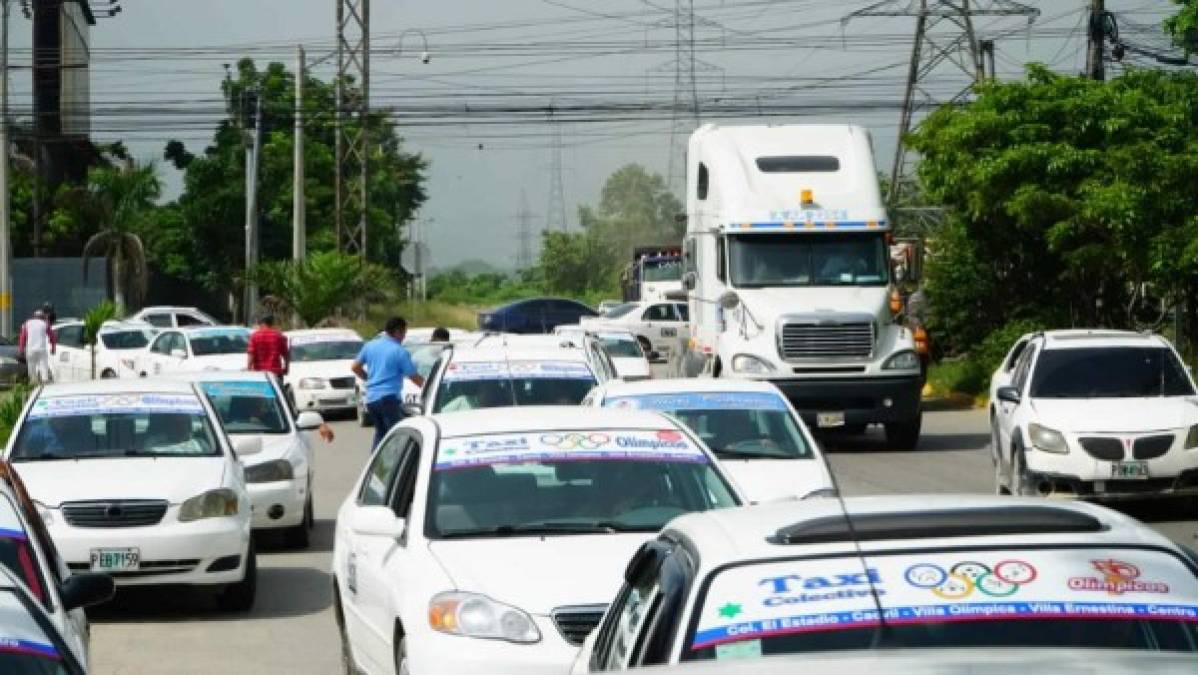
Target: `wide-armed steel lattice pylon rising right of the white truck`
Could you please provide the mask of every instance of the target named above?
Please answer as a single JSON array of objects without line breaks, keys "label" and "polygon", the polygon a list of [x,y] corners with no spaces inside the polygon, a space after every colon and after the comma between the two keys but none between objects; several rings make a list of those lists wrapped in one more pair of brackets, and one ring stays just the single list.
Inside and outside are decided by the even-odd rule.
[{"label": "wide-armed steel lattice pylon rising right of the white truck", "polygon": [[[974,31],[974,18],[1024,17],[1030,24],[1039,16],[1040,10],[1014,0],[883,0],[842,19],[842,23],[863,17],[915,19],[915,38],[890,170],[889,201],[893,211],[914,216],[920,227],[939,213],[937,209],[924,205],[918,193],[915,162],[907,146],[907,134],[918,117],[940,106],[963,101],[973,85],[985,79],[982,47]],[[938,94],[931,86],[944,76],[944,71],[956,73],[957,78],[963,73],[967,78],[950,96]]]}]

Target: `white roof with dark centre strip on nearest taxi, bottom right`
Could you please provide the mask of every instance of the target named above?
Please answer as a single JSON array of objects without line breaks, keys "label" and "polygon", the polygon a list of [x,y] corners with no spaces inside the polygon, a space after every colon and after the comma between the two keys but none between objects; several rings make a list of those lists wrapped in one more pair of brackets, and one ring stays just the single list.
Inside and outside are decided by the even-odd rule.
[{"label": "white roof with dark centre strip on nearest taxi, bottom right", "polygon": [[[843,523],[843,504],[853,516],[853,529]],[[948,514],[948,516],[945,516]],[[906,529],[895,529],[894,536],[887,535],[888,517],[906,517],[901,524]],[[981,523],[987,519],[1012,518],[1019,520],[1014,525],[1017,532],[998,532],[979,535]],[[1037,518],[1047,518],[1055,524],[1052,531],[1036,531],[1031,523]],[[922,519],[922,520],[920,520]],[[970,524],[968,531],[973,535],[944,535],[945,520],[956,524]],[[894,519],[897,523],[900,519]],[[1087,531],[1070,530],[1058,522],[1093,523],[1097,520],[1100,529]],[[927,537],[912,535],[912,522],[919,526],[926,523]],[[869,535],[871,523],[878,523],[882,534]],[[891,523],[891,524],[895,524]],[[829,526],[843,528],[845,536],[813,538],[803,543],[772,543],[770,538],[781,531],[811,532],[827,531]],[[895,528],[898,525],[895,524]],[[1047,528],[1047,525],[1046,525]],[[1055,501],[1036,498],[1012,498],[992,495],[891,495],[860,496],[839,499],[809,499],[786,501],[743,508],[707,511],[680,516],[666,529],[689,540],[700,552],[704,567],[716,567],[726,562],[743,560],[761,560],[788,558],[803,554],[840,553],[851,554],[855,550],[853,538],[859,540],[864,550],[877,550],[893,547],[896,541],[903,546],[969,546],[969,544],[1029,544],[1029,543],[1085,543],[1085,544],[1146,544],[1176,550],[1167,537],[1142,525],[1115,511],[1081,501]],[[1065,531],[1069,530],[1069,531]],[[818,532],[817,532],[818,534]],[[776,541],[776,540],[775,540]]]}]

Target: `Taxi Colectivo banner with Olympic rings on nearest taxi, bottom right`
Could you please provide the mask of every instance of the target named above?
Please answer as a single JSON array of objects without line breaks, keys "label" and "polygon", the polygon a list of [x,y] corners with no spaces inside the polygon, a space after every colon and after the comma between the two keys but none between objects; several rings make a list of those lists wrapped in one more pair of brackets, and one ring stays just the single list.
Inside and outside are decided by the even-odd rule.
[{"label": "Taxi Colectivo banner with Olympic rings on nearest taxi, bottom right", "polygon": [[713,579],[690,649],[958,621],[1198,623],[1198,579],[1156,550],[1076,548],[872,555],[732,567]]}]

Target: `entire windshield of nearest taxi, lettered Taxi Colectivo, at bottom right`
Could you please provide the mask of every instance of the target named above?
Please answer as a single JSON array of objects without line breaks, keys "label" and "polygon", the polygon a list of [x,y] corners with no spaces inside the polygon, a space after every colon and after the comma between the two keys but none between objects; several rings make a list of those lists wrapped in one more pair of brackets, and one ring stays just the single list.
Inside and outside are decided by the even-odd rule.
[{"label": "entire windshield of nearest taxi, lettered Taxi Colectivo, at bottom right", "polygon": [[1193,563],[1163,549],[745,562],[700,587],[684,661],[871,647],[1198,651]]}]

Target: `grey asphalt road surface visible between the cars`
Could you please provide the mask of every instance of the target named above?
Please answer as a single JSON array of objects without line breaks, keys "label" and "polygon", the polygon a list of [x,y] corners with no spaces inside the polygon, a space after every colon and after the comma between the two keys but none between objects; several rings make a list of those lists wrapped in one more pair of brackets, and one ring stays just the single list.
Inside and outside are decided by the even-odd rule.
[{"label": "grey asphalt road surface visible between the cars", "polygon": [[[99,674],[337,673],[339,646],[328,577],[333,517],[367,458],[367,429],[338,422],[337,441],[317,448],[316,534],[304,552],[262,542],[259,590],[248,615],[217,611],[208,596],[156,590],[123,592],[92,615],[92,665]],[[848,495],[991,493],[993,469],[982,411],[934,411],[920,448],[894,452],[881,432],[823,440]],[[1121,507],[1170,537],[1198,543],[1192,505]]]}]

